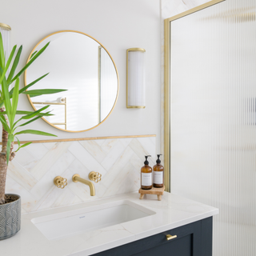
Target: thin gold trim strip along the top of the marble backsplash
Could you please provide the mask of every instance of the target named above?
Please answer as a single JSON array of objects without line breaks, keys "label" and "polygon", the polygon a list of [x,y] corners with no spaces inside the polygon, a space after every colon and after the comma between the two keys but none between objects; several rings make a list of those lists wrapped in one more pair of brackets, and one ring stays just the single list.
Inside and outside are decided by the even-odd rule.
[{"label": "thin gold trim strip along the top of the marble backsplash", "polygon": [[[57,139],[49,139],[49,140],[38,140],[38,141],[22,141],[21,144],[25,144],[27,142],[33,143],[47,143],[47,142],[78,142],[78,141],[90,141],[95,139],[109,139],[109,138],[147,138],[147,137],[157,137],[156,134],[148,134],[148,135],[126,135],[126,136],[106,136],[106,137],[91,137],[91,138],[57,138]],[[18,142],[14,142],[14,144],[18,144]],[[2,145],[2,142],[0,142]]]}]

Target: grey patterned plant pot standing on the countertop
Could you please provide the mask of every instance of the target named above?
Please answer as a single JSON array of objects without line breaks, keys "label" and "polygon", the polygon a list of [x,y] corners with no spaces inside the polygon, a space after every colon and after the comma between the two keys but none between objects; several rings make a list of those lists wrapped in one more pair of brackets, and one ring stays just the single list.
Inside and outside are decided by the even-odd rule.
[{"label": "grey patterned plant pot standing on the countertop", "polygon": [[11,238],[21,229],[21,197],[14,202],[0,205],[0,240]]}]

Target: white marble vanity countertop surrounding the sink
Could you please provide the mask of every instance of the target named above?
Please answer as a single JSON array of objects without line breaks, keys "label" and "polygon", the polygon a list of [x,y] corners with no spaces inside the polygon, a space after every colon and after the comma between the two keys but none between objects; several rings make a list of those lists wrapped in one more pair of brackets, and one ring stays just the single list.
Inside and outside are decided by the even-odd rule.
[{"label": "white marble vanity countertop surrounding the sink", "polygon": [[[153,210],[156,214],[100,230],[54,240],[48,240],[31,222],[33,218],[90,206],[100,206],[118,200],[130,200]],[[80,256],[96,254],[215,214],[218,214],[218,209],[214,207],[166,192],[162,196],[162,201],[158,201],[156,195],[146,195],[144,199],[140,200],[138,193],[122,194],[73,206],[22,214],[21,230],[14,237],[0,241],[0,252],[4,256]]]}]

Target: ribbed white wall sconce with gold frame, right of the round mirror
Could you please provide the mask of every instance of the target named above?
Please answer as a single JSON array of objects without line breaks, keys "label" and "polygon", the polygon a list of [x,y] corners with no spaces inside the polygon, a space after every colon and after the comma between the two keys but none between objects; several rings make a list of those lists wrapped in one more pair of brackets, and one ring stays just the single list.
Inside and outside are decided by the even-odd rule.
[{"label": "ribbed white wall sconce with gold frame, right of the round mirror", "polygon": [[145,49],[130,48],[126,51],[126,107],[146,107]]}]

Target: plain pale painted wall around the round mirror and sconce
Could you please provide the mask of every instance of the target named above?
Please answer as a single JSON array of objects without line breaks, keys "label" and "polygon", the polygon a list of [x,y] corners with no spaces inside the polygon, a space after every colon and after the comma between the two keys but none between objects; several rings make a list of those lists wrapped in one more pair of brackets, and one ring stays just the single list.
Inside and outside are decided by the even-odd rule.
[{"label": "plain pale painted wall around the round mirror and sconce", "polygon": [[[21,63],[46,35],[58,30],[78,30],[96,38],[110,52],[118,69],[119,96],[110,117],[83,133],[67,133],[38,120],[28,126],[58,135],[85,138],[156,134],[160,150],[161,40],[160,0],[1,0],[1,21],[11,26],[11,44],[23,45]],[[126,49],[146,49],[146,109],[126,109]],[[21,82],[23,86],[23,81]],[[26,96],[19,110],[32,110]],[[49,139],[22,135],[21,140]]]}]

